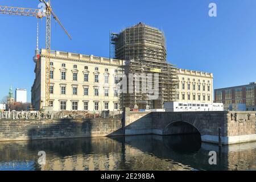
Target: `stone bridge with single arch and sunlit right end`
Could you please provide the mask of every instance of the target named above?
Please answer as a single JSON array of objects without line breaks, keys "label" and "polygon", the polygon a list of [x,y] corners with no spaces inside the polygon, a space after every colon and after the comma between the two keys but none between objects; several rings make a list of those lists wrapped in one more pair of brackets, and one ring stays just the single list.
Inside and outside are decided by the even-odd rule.
[{"label": "stone bridge with single arch and sunlit right end", "polygon": [[123,113],[125,135],[199,133],[203,142],[234,144],[256,140],[255,111],[136,112]]}]

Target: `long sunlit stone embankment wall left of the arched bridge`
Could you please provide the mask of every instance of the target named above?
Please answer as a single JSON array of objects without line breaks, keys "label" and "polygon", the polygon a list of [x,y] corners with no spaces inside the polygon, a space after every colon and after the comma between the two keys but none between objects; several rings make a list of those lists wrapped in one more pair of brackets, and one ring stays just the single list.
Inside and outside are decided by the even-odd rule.
[{"label": "long sunlit stone embankment wall left of the arched bridge", "polygon": [[121,118],[0,120],[0,141],[123,135]]}]

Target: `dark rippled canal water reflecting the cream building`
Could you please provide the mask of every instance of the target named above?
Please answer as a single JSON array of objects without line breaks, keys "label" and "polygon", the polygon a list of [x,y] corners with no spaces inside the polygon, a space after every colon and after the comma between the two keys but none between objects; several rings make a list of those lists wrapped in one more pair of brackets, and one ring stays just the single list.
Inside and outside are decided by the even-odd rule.
[{"label": "dark rippled canal water reflecting the cream building", "polygon": [[256,143],[220,150],[195,134],[1,142],[0,170],[256,170]]}]

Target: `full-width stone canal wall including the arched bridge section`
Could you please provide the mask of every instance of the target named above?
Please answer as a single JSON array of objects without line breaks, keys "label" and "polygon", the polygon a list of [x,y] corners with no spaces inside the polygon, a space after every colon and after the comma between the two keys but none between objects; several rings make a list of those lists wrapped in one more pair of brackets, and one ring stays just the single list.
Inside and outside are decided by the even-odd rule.
[{"label": "full-width stone canal wall including the arched bridge section", "polygon": [[122,118],[0,119],[0,141],[191,133],[208,143],[253,142],[256,112],[139,112],[127,107]]}]

